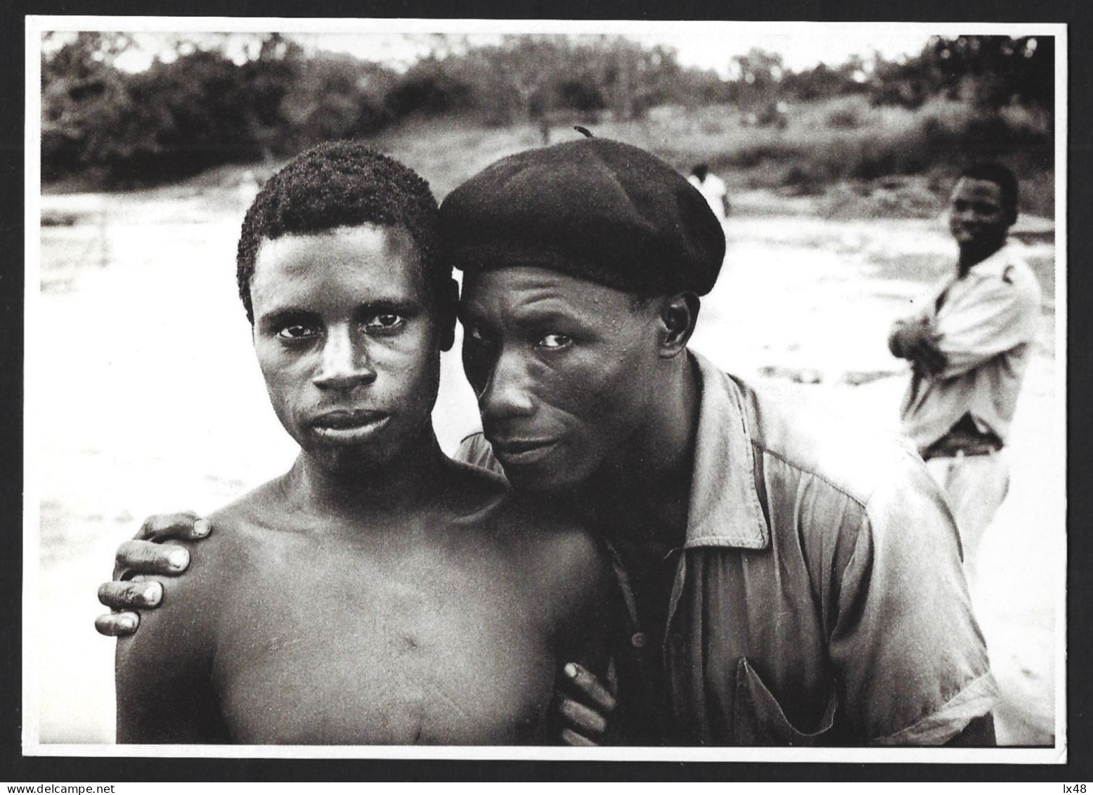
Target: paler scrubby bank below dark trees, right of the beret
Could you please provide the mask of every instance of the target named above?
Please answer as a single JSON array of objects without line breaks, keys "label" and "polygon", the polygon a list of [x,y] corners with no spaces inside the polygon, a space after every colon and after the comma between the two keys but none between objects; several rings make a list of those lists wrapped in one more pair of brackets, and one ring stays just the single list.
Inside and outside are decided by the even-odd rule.
[{"label": "paler scrubby bank below dark trees, right of the beret", "polygon": [[[945,98],[909,109],[844,96],[790,106],[787,117],[786,129],[777,130],[745,126],[724,106],[677,107],[655,112],[643,125],[604,126],[597,133],[647,145],[684,172],[707,162],[733,187],[784,188],[798,196],[818,196],[841,184],[900,186],[913,175],[943,177],[933,200],[924,194],[910,201],[906,188],[890,188],[898,195],[901,212],[913,214],[930,214],[931,201],[943,203],[951,187],[945,180],[967,161],[998,159],[1021,177],[1024,207],[1053,210],[1050,177],[1037,182],[1053,167],[1050,116],[1041,109],[990,110]],[[846,126],[851,118],[853,126]],[[1041,183],[1044,187],[1036,187]],[[850,203],[857,207],[847,201],[839,207]]]}]

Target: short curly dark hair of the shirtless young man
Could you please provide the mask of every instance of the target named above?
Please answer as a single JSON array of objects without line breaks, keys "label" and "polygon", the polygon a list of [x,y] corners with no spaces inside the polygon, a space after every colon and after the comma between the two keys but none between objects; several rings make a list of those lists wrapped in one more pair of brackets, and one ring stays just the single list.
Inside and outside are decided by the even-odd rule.
[{"label": "short curly dark hair of the shirtless young man", "polygon": [[363,143],[322,143],[301,152],[255,197],[236,253],[239,297],[254,325],[250,279],[265,239],[365,223],[402,226],[421,255],[425,283],[439,295],[451,279],[440,257],[433,191],[416,172]]}]

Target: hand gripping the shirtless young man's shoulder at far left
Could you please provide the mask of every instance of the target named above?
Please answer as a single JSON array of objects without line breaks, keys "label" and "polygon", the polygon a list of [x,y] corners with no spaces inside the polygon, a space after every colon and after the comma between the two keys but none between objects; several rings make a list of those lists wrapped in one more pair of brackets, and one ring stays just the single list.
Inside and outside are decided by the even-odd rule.
[{"label": "hand gripping the shirtless young man's shoulder at far left", "polygon": [[95,619],[104,635],[130,635],[140,626],[138,609],[154,608],[163,598],[163,585],[149,575],[177,576],[190,564],[189,550],[169,539],[200,540],[212,527],[207,519],[187,511],[156,514],[144,519],[137,535],[118,547],[114,557],[114,580],[98,586],[98,600],[110,612]]}]

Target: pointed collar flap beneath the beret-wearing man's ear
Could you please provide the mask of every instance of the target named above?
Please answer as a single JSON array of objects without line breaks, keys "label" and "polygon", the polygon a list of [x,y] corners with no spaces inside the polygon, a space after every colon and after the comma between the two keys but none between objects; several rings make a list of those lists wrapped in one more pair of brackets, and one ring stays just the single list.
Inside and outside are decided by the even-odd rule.
[{"label": "pointed collar flap beneath the beret-wearing man's ear", "polygon": [[766,549],[771,528],[755,489],[755,459],[737,385],[705,356],[698,365],[702,398],[684,549]]}]

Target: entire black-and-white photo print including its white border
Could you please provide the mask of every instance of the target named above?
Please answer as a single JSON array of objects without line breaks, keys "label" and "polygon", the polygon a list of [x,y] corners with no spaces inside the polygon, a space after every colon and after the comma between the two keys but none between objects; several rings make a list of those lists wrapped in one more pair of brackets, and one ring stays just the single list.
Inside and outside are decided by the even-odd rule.
[{"label": "entire black-and-white photo print including its white border", "polygon": [[1065,762],[1067,46],[26,17],[23,753]]}]

